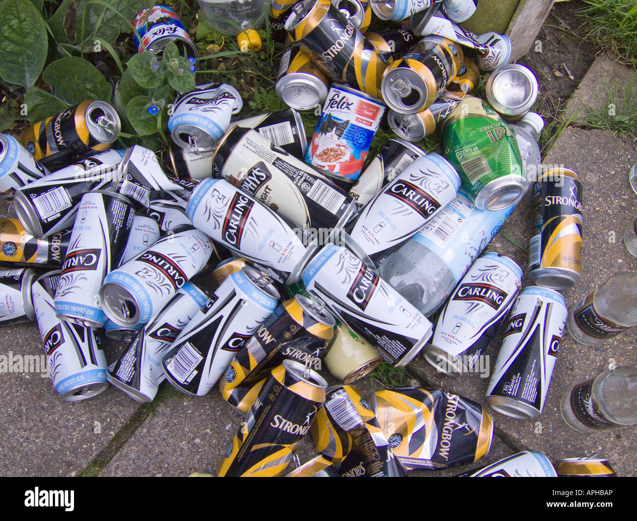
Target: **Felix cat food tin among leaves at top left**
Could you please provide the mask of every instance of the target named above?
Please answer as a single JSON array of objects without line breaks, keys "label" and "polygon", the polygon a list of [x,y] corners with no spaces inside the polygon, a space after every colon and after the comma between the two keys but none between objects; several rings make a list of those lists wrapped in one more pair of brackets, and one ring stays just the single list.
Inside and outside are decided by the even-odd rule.
[{"label": "Felix cat food tin among leaves at top left", "polygon": [[175,11],[166,6],[152,6],[142,10],[132,20],[132,39],[137,52],[160,54],[173,42],[180,54],[197,59],[197,47]]}]

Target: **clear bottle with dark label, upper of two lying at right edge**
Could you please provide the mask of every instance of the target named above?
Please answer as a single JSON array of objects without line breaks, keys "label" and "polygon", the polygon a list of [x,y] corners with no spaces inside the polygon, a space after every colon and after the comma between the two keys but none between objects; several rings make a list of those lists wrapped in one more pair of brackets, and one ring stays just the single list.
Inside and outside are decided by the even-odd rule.
[{"label": "clear bottle with dark label, upper of two lying at right edge", "polygon": [[637,273],[620,272],[568,310],[568,332],[580,344],[601,345],[637,326]]}]

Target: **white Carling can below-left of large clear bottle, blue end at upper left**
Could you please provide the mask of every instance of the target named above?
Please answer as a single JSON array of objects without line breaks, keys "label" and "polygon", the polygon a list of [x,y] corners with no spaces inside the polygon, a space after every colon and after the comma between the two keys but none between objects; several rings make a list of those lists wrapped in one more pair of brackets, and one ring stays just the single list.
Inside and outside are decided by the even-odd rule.
[{"label": "white Carling can below-left of large clear bottle, blue end at upper left", "polygon": [[431,337],[426,317],[343,246],[324,247],[303,283],[391,365],[407,365]]}]

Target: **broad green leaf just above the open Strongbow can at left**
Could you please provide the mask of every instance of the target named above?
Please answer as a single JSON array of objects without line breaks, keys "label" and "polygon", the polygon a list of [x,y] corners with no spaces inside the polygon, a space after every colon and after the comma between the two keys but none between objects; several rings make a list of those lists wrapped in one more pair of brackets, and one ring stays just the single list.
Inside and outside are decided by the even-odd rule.
[{"label": "broad green leaf just above the open Strongbow can at left", "polygon": [[42,79],[59,99],[76,105],[85,99],[111,101],[113,88],[87,60],[69,56],[55,60],[44,69]]}]

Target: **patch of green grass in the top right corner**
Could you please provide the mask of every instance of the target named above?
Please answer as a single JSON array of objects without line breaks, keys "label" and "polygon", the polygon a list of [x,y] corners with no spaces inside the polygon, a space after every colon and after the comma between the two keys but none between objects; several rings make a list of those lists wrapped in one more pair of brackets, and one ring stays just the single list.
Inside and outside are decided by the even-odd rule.
[{"label": "patch of green grass in the top right corner", "polygon": [[586,39],[637,67],[637,2],[635,0],[587,0],[576,14],[583,21]]}]

